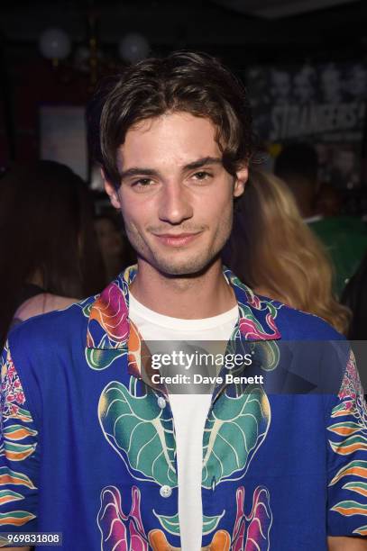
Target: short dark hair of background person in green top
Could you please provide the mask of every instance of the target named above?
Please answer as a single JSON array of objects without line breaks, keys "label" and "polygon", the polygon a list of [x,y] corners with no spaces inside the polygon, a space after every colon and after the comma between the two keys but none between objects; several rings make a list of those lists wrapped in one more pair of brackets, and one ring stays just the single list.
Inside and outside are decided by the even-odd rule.
[{"label": "short dark hair of background person in green top", "polygon": [[274,174],[285,180],[301,178],[307,182],[317,181],[317,151],[309,143],[291,143],[286,145],[275,159]]}]

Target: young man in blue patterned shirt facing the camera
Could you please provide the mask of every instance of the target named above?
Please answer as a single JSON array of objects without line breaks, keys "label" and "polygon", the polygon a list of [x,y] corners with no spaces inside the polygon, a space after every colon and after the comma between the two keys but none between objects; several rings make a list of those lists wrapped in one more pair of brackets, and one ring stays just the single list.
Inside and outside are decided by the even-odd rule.
[{"label": "young man in blue patterned shirt facing the camera", "polygon": [[61,532],[68,550],[366,549],[366,410],[337,342],[337,394],[267,395],[254,377],[183,394],[152,375],[157,340],[228,341],[273,381],[290,374],[283,341],[308,343],[306,369],[286,347],[299,378],[326,367],[311,341],[340,339],[221,264],[253,155],[241,86],[215,59],[176,53],[127,69],[96,105],[106,191],[138,265],[10,335],[4,531]]}]

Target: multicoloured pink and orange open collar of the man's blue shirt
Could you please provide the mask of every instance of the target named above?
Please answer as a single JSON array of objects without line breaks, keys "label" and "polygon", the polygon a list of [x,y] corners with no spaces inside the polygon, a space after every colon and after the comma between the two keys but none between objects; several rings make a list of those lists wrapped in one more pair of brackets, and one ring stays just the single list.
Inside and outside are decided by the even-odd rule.
[{"label": "multicoloured pink and orange open collar of the man's blue shirt", "polygon": [[[224,276],[234,289],[239,315],[237,328],[245,340],[280,339],[275,319],[280,303],[253,294],[228,268]],[[132,356],[142,352],[142,343],[133,323],[129,321],[129,285],[137,274],[137,266],[130,266],[96,297],[87,322],[87,349],[120,350]]]}]

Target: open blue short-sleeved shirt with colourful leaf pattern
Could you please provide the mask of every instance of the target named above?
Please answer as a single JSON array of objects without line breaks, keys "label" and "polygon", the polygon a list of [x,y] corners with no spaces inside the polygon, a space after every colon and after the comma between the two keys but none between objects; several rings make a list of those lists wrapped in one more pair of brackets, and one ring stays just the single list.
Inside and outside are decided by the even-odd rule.
[{"label": "open blue short-sleeved shirt with colourful leaf pattern", "polygon": [[[180,548],[170,399],[142,376],[149,354],[129,321],[135,275],[128,268],[102,294],[10,334],[0,531],[62,532],[70,551]],[[224,275],[238,303],[227,346],[256,350],[271,392],[216,385],[203,438],[202,546],[321,551],[327,536],[367,536],[367,411],[353,353],[326,322]],[[306,379],[307,391],[289,390],[289,377]],[[316,380],[325,392],[314,392]]]}]

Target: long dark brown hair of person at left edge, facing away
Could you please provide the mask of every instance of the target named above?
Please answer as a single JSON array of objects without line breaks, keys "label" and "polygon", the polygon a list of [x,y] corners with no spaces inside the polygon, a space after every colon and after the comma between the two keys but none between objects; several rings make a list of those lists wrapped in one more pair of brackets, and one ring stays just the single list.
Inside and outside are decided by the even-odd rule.
[{"label": "long dark brown hair of person at left edge, facing away", "polygon": [[87,184],[60,163],[11,168],[0,179],[0,336],[36,274],[50,294],[81,298],[104,286]]}]

